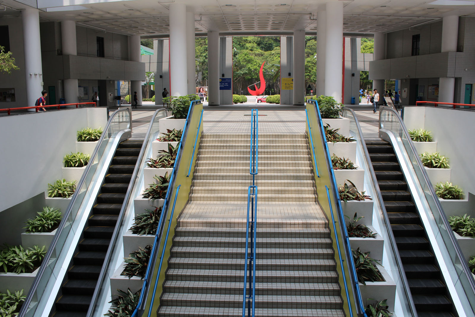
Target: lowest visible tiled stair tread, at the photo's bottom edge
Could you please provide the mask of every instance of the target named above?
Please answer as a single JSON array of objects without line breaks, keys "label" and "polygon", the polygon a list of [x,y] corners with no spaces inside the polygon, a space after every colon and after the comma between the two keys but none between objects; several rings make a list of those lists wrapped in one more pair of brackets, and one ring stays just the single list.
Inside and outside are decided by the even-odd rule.
[{"label": "lowest visible tiled stair tread, at the photo's bottom edge", "polygon": [[[177,307],[161,306],[158,315],[161,317],[242,317],[242,307]],[[309,309],[309,308],[256,308],[256,316],[318,316],[344,317],[341,309]]]}]

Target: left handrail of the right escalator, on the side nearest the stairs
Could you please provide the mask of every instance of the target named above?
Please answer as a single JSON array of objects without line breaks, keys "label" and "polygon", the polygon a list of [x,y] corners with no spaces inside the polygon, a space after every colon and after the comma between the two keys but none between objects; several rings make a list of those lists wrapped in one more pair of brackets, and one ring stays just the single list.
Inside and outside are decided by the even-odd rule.
[{"label": "left handrail of the right escalator, on the side nearest the stairs", "polygon": [[[355,114],[354,110],[350,109],[350,108],[344,108],[343,111],[342,111],[342,116],[344,116],[345,112],[349,112],[349,113],[352,114],[353,118],[355,119],[356,129],[358,131],[358,134],[360,135],[360,140],[364,140],[363,132],[361,131],[360,122],[358,121],[358,118],[356,117],[356,114]],[[374,184],[375,192],[377,193],[377,196],[378,196],[377,199],[380,203],[382,215],[383,215],[383,218],[384,218],[384,225],[386,226],[386,231],[388,232],[388,236],[389,236],[389,239],[390,239],[391,249],[392,249],[393,253],[396,256],[395,257],[396,258],[396,265],[398,266],[399,277],[402,281],[402,284],[404,286],[404,292],[406,293],[406,297],[408,299],[409,309],[411,310],[412,316],[418,317],[416,307],[414,305],[414,301],[412,300],[412,294],[411,294],[411,291],[409,289],[408,279],[406,278],[406,274],[404,273],[404,268],[402,266],[401,257],[399,256],[399,250],[398,250],[397,247],[395,247],[396,246],[396,238],[394,237],[394,234],[393,234],[391,226],[390,226],[390,221],[389,221],[388,213],[386,211],[386,207],[384,206],[383,197],[381,195],[381,191],[380,191],[379,186],[376,186],[376,184],[378,184],[378,180],[376,178],[376,173],[374,173],[373,165],[369,161],[370,154],[369,154],[368,149],[366,148],[366,146],[361,144],[361,147],[363,149],[363,154],[364,154],[363,156],[364,156],[364,159],[366,160],[366,165],[368,166],[368,169],[369,169],[368,172],[370,173],[371,180]]]}]

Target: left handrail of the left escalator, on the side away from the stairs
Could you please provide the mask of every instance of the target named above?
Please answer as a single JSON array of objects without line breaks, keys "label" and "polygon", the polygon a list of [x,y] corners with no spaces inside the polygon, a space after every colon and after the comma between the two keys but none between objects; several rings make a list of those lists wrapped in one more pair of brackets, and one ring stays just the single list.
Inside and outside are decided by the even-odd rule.
[{"label": "left handrail of the left escalator, on the side away from the stairs", "polygon": [[[35,294],[35,292],[38,288],[39,281],[40,281],[41,277],[43,276],[43,273],[45,272],[45,269],[46,269],[46,267],[47,267],[47,265],[48,265],[48,263],[51,259],[51,256],[53,255],[53,250],[55,249],[56,244],[59,240],[59,236],[61,235],[61,232],[63,231],[63,229],[66,225],[66,221],[69,218],[69,215],[71,214],[72,206],[76,202],[77,195],[78,195],[79,191],[81,190],[81,188],[82,188],[82,186],[85,182],[86,175],[89,173],[89,170],[91,169],[91,166],[93,165],[92,162],[94,162],[94,160],[97,156],[97,153],[99,152],[99,148],[101,147],[102,143],[104,142],[105,135],[108,134],[107,132],[109,131],[109,128],[112,125],[112,122],[113,122],[115,116],[117,116],[118,114],[123,113],[123,112],[127,112],[129,114],[129,122],[128,122],[127,129],[132,128],[132,109],[131,109],[130,106],[129,107],[124,107],[124,108],[121,108],[121,109],[117,109],[110,116],[109,120],[107,121],[107,124],[105,125],[104,131],[101,134],[101,137],[99,138],[99,140],[98,140],[98,142],[95,146],[94,152],[92,153],[91,158],[89,159],[90,164],[86,165],[86,168],[83,172],[83,175],[81,176],[81,179],[79,180],[79,182],[76,185],[76,191],[74,192],[73,196],[71,197],[71,201],[69,202],[69,204],[67,206],[67,209],[66,209],[66,211],[63,215],[63,219],[59,223],[59,226],[56,230],[56,234],[53,237],[53,240],[51,241],[51,243],[49,245],[49,248],[48,248],[48,251],[45,255],[45,258],[43,259],[43,262],[41,262],[41,266],[39,267],[38,273],[37,273],[35,279],[33,280],[33,284],[31,285],[31,288],[28,291],[28,295],[25,298],[25,301],[23,302],[23,305],[22,305],[21,310],[18,314],[18,317],[24,317],[25,314],[27,313],[28,307],[31,303],[31,300],[33,299],[33,295]],[[38,300],[39,300],[39,298],[38,298]]]}]

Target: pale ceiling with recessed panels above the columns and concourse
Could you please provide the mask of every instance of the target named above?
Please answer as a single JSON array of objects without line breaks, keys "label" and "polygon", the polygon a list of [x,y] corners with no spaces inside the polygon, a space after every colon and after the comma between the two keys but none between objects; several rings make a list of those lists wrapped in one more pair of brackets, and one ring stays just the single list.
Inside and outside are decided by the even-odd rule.
[{"label": "pale ceiling with recessed panels above the columns and concourse", "polygon": [[[61,3],[66,3],[66,1],[62,0]],[[171,2],[178,2],[185,3],[195,11],[195,31],[197,33],[218,29],[224,34],[278,35],[291,33],[294,29],[315,32],[318,6],[327,0],[96,1],[99,0],[74,0],[74,6],[43,8],[40,18],[42,21],[71,19],[80,22],[80,25],[122,34],[139,34],[142,37],[167,37],[169,34],[168,8]],[[343,32],[352,34],[405,29],[436,21],[446,15],[475,16],[474,0],[333,1],[343,2]],[[38,2],[41,5],[41,3],[47,3],[48,0]],[[0,8],[1,3],[5,3],[13,9],[25,7],[15,0],[0,0]],[[437,3],[449,3],[450,5]],[[11,12],[12,9],[9,8],[0,11],[0,17],[11,14]]]}]

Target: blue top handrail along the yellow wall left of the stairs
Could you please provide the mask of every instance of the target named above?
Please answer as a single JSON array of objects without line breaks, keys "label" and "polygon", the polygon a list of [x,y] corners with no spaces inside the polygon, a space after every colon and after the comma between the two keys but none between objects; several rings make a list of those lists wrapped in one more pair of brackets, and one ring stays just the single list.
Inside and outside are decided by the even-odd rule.
[{"label": "blue top handrail along the yellow wall left of the stairs", "polygon": [[[173,169],[171,170],[171,173],[170,173],[170,181],[169,181],[167,193],[165,195],[165,200],[164,200],[163,205],[161,207],[160,220],[158,222],[157,231],[155,233],[155,238],[153,240],[153,246],[152,246],[152,250],[150,252],[149,263],[148,263],[148,266],[147,266],[147,270],[145,272],[145,276],[143,277],[142,290],[140,291],[139,301],[137,303],[137,306],[133,310],[133,313],[132,313],[131,317],[137,316],[137,314],[139,313],[139,310],[141,310],[141,306],[144,305],[144,300],[143,299],[145,298],[145,294],[148,292],[147,288],[149,287],[148,282],[149,282],[149,278],[150,278],[150,274],[151,274],[151,269],[152,269],[152,267],[155,266],[154,262],[155,262],[156,256],[157,256],[157,254],[155,254],[155,253],[158,252],[158,248],[161,245],[161,239],[163,238],[162,233],[163,233],[164,225],[165,225],[164,219],[166,219],[168,217],[168,209],[169,209],[168,207],[170,205],[169,195],[171,195],[171,192],[173,192],[173,188],[175,186],[175,174],[177,172],[176,167],[178,165],[178,162],[180,162],[180,159],[181,159],[181,146],[182,146],[182,143],[183,143],[183,139],[186,137],[186,134],[187,134],[187,129],[188,129],[188,125],[189,125],[188,120],[190,119],[190,113],[191,113],[192,108],[194,107],[194,105],[197,105],[200,102],[201,102],[200,100],[193,100],[193,101],[190,102],[190,108],[188,109],[188,115],[186,117],[185,125],[183,127],[183,133],[181,134],[180,143],[178,144],[177,156],[176,156],[176,159],[175,159],[175,163],[173,164]],[[165,248],[165,244],[164,244],[163,247]]]}]

